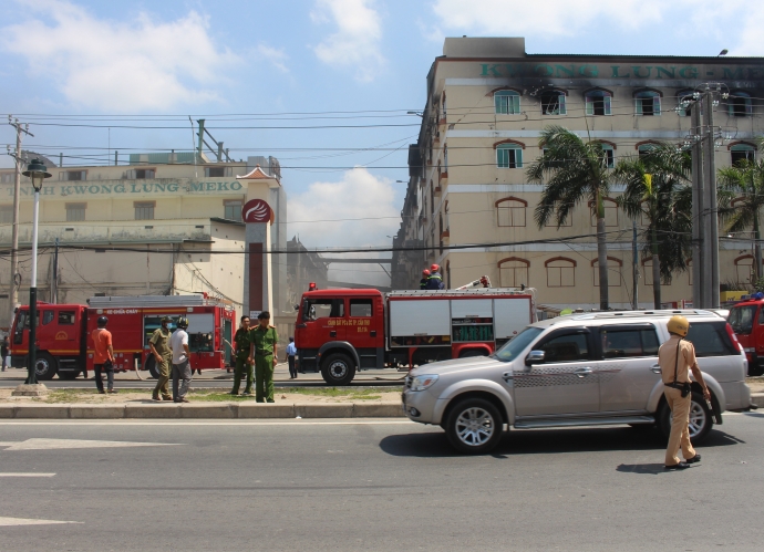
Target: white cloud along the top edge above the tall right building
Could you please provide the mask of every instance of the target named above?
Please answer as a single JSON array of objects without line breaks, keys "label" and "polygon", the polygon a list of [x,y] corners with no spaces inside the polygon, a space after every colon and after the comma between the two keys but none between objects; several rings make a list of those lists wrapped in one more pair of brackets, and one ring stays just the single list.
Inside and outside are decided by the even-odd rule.
[{"label": "white cloud along the top edge above the tall right building", "polygon": [[[679,0],[680,3],[683,1]],[[506,0],[435,0],[433,10],[447,29],[523,37],[531,33],[574,35],[585,24],[602,19],[637,28],[646,22],[660,21],[665,7],[665,2],[659,0],[546,0],[541,4]],[[599,24],[606,22],[599,21]]]}]

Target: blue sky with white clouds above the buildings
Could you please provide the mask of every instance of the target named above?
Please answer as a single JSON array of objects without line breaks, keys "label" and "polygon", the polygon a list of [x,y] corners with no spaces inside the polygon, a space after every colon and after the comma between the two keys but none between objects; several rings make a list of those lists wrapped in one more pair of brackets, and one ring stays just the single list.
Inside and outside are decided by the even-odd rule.
[{"label": "blue sky with white clouds above the buildings", "polygon": [[[391,243],[419,132],[406,112],[423,108],[445,37],[525,37],[528,53],[764,55],[764,2],[736,0],[0,0],[0,116],[30,123],[24,149],[87,165],[114,149],[188,150],[183,119],[206,117],[231,157],[280,160],[289,233],[309,248]],[[0,146],[14,137],[0,126]],[[331,269],[384,282],[375,265]]]}]

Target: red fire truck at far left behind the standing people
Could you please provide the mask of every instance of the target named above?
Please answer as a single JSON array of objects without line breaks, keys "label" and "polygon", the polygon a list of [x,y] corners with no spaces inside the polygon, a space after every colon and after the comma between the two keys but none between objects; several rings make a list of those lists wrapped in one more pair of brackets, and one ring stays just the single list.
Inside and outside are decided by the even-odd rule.
[{"label": "red fire truck at far left behind the standing people", "polygon": [[[143,369],[158,377],[148,339],[163,316],[188,319],[188,348],[194,368],[225,368],[230,365],[230,342],[235,313],[230,304],[203,295],[97,296],[89,305],[38,303],[37,374],[39,379],[74,379],[93,369],[91,332],[97,317],[109,317],[114,346],[114,369]],[[25,367],[29,354],[29,306],[17,310],[11,326],[11,362]]]}]

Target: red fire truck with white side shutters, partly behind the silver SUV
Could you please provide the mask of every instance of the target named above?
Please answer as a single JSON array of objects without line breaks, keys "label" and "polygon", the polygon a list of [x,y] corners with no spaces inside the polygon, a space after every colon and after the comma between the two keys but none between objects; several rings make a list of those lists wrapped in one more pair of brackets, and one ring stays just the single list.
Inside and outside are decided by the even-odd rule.
[{"label": "red fire truck with white side shutters, partly behind the silver SUV", "polygon": [[487,356],[535,320],[534,290],[321,290],[302,294],[301,371],[347,385],[358,369]]}]

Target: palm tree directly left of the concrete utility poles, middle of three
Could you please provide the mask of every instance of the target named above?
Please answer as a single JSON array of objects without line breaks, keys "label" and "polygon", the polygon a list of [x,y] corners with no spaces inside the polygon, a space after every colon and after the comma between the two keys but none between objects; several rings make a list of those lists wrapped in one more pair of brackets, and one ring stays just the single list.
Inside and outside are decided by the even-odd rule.
[{"label": "palm tree directly left of the concrete utility poles, middle of three", "polygon": [[631,218],[648,220],[643,253],[652,256],[652,293],[661,308],[661,280],[686,269],[691,254],[692,159],[674,145],[661,144],[644,157],[618,164],[613,179],[626,185],[618,205]]}]

